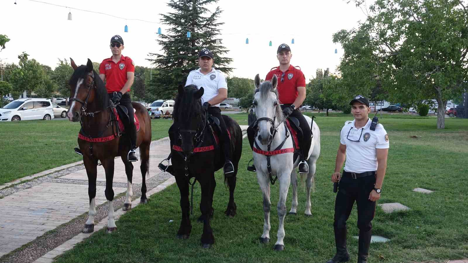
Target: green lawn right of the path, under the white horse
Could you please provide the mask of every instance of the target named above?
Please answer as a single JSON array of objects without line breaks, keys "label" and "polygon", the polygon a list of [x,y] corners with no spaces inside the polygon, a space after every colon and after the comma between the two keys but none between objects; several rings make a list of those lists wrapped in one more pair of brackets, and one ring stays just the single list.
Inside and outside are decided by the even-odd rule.
[{"label": "green lawn right of the path, under the white horse", "polygon": [[[215,244],[200,247],[202,224],[198,204],[200,187],[194,190],[194,214],[190,239],[176,239],[180,224],[179,190],[174,184],[151,197],[117,221],[117,231],[97,231],[56,262],[325,262],[335,253],[333,209],[335,194],[330,175],[335,164],[339,131],[351,116],[321,117],[316,122],[322,131],[322,153],[317,162],[316,192],[312,195],[312,217],[305,217],[305,192],[299,192],[298,215],[285,219],[285,251],[273,251],[278,231],[278,184],[271,187],[271,242],[261,244],[263,231],[262,194],[256,175],[245,167],[252,154],[248,140],[237,177],[235,198],[237,215],[227,218],[228,190],[222,175],[214,195],[212,228]],[[323,115],[322,115],[323,116]],[[233,116],[247,123],[246,114]],[[379,203],[398,202],[411,210],[385,214],[377,208],[373,234],[390,238],[388,243],[373,243],[368,262],[445,262],[468,256],[468,212],[466,200],[466,162],[468,120],[446,119],[446,129],[436,129],[434,117],[386,116],[380,120],[390,138],[387,176]],[[417,136],[417,138],[410,138]],[[274,164],[273,164],[274,165]],[[412,190],[433,190],[430,195]],[[291,208],[292,191],[286,203]],[[169,222],[169,220],[174,220]],[[356,209],[348,221],[348,249],[356,262],[358,235]]]}]

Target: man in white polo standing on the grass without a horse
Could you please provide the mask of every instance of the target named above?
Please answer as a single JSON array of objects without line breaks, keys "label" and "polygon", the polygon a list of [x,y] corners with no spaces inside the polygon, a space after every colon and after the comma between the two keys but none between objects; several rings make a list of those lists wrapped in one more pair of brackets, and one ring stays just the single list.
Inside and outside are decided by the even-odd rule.
[{"label": "man in white polo standing on the grass without a horse", "polygon": [[[372,236],[375,202],[380,198],[387,169],[388,135],[382,124],[371,130],[369,101],[361,95],[351,100],[354,121],[345,124],[340,132],[340,146],[336,154],[333,183],[339,182],[335,200],[336,255],[327,263],[347,262],[346,220],[354,201],[358,205],[359,250],[358,263],[366,263]],[[340,170],[344,165],[343,174]]]}]

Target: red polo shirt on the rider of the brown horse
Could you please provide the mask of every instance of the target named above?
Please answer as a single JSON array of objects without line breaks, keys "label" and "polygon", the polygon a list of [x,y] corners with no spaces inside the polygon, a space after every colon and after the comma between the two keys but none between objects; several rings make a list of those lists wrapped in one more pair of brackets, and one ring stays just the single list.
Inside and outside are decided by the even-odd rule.
[{"label": "red polo shirt on the rider of the brown horse", "polygon": [[[106,88],[108,93],[120,91],[127,82],[127,72],[135,72],[135,63],[132,58],[121,56],[117,63],[112,57],[102,60],[99,74],[106,75]],[[127,91],[130,91],[128,88]]]}]

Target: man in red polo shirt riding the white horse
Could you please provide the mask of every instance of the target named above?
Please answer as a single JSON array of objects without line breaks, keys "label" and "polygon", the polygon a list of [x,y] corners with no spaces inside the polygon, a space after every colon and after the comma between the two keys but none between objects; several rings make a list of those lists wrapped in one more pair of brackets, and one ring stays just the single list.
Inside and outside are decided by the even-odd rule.
[{"label": "man in red polo shirt riding the white horse", "polygon": [[[307,165],[307,156],[312,143],[312,133],[307,120],[299,111],[299,107],[306,98],[306,78],[300,69],[291,65],[291,48],[287,44],[280,44],[277,50],[279,66],[274,67],[266,75],[265,80],[271,80],[273,75],[278,77],[278,97],[285,116],[296,117],[299,120],[299,126],[302,130],[300,138],[301,161],[299,163],[299,172],[307,174],[309,167]],[[252,126],[247,129],[250,147],[253,148],[255,130]],[[247,167],[247,170],[255,172],[255,165]]]}]

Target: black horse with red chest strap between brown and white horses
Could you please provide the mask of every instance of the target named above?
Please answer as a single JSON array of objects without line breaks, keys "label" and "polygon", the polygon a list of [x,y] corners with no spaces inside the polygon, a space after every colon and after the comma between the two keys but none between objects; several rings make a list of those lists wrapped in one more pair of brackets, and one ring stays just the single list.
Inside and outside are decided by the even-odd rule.
[{"label": "black horse with red chest strap between brown and white horses", "polygon": [[[208,124],[208,114],[202,110],[201,96],[203,88],[197,89],[195,85],[185,88],[180,86],[174,104],[174,124],[170,129],[172,142],[172,167],[180,190],[180,206],[182,208],[182,221],[177,232],[177,238],[187,239],[192,226],[190,224],[189,183],[190,178],[200,183],[202,215],[198,219],[203,222],[201,242],[204,248],[210,248],[214,243],[214,236],[210,226],[213,216],[213,194],[216,187],[214,172],[223,167],[224,154],[217,146]],[[234,203],[234,189],[239,160],[242,153],[242,131],[239,124],[233,119],[223,115],[227,130],[231,136],[231,150],[234,164],[234,175],[224,178],[229,188],[229,203],[225,214],[234,216],[236,205]],[[195,182],[194,182],[195,183]]]}]

